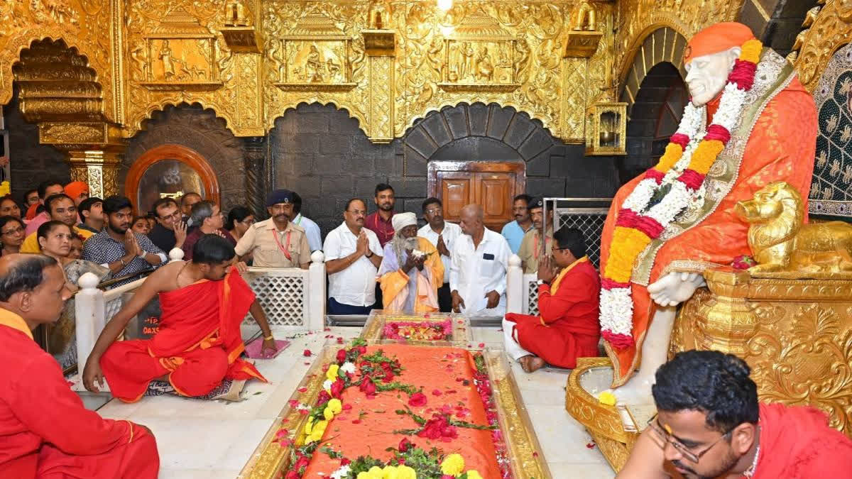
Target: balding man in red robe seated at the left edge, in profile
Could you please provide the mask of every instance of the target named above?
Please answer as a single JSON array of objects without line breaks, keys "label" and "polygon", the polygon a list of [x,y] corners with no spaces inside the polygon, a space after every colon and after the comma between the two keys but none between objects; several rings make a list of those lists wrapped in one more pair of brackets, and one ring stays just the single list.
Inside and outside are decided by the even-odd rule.
[{"label": "balding man in red robe seated at the left edge, in profile", "polygon": [[0,258],[0,477],[138,477],[159,470],[151,431],[83,407],[59,364],[32,340],[71,293],[55,259]]}]

